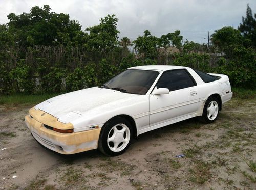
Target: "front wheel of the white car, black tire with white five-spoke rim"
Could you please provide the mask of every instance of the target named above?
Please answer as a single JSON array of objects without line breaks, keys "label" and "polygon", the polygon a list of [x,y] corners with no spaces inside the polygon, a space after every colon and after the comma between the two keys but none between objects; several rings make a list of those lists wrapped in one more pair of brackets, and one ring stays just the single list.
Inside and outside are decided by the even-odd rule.
[{"label": "front wheel of the white car, black tire with white five-spoke rim", "polygon": [[[124,132],[122,133],[123,130]],[[121,117],[114,118],[102,127],[99,135],[98,149],[108,156],[121,155],[129,148],[132,135],[132,125],[126,119]],[[125,142],[119,142],[121,140]]]}]

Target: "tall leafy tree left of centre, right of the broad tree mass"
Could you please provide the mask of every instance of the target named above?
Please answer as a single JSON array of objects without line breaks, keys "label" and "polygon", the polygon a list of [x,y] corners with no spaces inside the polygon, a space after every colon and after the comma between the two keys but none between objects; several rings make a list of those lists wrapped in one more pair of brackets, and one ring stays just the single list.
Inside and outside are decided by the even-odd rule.
[{"label": "tall leafy tree left of centre, right of the broad tree mass", "polygon": [[89,50],[102,52],[103,57],[114,49],[118,44],[118,33],[116,29],[118,19],[115,15],[108,15],[100,19],[100,24],[86,29],[88,35],[86,46]]}]

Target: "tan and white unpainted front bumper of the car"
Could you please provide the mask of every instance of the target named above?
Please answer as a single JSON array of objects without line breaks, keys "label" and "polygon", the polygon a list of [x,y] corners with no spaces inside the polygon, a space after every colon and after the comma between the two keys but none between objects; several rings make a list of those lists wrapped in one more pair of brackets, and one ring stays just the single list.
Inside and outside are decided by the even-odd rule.
[{"label": "tan and white unpainted front bumper of the car", "polygon": [[25,122],[40,144],[60,154],[75,154],[98,148],[100,128],[64,134],[46,128],[30,115],[25,117]]}]

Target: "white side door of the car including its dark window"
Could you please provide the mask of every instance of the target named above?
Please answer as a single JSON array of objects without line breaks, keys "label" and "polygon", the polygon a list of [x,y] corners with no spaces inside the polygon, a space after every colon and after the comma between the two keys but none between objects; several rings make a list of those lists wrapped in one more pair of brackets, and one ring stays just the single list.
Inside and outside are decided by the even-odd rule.
[{"label": "white side door of the car including its dark window", "polygon": [[162,95],[150,94],[150,128],[191,118],[198,110],[197,84],[186,69],[164,72],[155,88],[167,88],[170,92]]}]

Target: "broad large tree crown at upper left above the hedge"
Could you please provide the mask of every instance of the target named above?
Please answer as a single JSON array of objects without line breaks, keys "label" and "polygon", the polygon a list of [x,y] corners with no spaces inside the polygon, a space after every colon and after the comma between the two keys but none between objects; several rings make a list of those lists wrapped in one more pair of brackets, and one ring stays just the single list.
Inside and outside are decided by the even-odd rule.
[{"label": "broad large tree crown at upper left above the hedge", "polygon": [[68,14],[50,12],[49,5],[32,7],[30,13],[10,13],[8,30],[15,41],[25,47],[32,45],[67,45],[83,33],[78,21],[70,20]]}]

